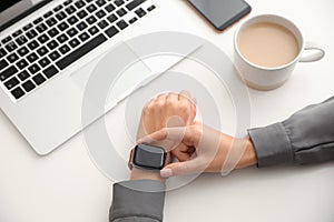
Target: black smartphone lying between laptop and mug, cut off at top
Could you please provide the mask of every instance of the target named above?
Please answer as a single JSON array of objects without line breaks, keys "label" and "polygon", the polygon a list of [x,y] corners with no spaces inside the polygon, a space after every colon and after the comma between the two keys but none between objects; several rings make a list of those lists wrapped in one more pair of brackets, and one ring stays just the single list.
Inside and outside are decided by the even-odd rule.
[{"label": "black smartphone lying between laptop and mug, cut off at top", "polygon": [[250,12],[244,0],[188,0],[217,30],[223,31]]}]

